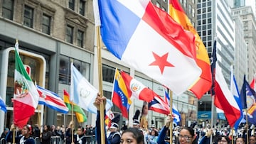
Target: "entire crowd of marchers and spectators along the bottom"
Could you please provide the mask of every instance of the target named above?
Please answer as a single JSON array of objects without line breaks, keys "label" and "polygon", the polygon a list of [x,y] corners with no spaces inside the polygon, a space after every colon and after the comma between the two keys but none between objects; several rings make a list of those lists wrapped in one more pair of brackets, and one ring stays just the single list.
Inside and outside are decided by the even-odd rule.
[{"label": "entire crowd of marchers and spectators along the bottom", "polygon": [[[101,143],[103,136],[105,137],[106,144],[210,144],[210,142],[215,144],[231,144],[232,140],[235,144],[245,144],[247,140],[249,144],[256,144],[256,133],[253,125],[240,125],[238,131],[233,132],[228,125],[219,126],[216,124],[211,128],[209,123],[206,123],[205,127],[193,123],[190,127],[174,125],[171,133],[169,128],[172,124],[173,117],[169,114],[169,116],[166,116],[166,122],[163,128],[156,128],[154,124],[148,126],[148,122],[146,121],[148,111],[146,103],[142,106],[140,119],[140,112],[135,112],[131,128],[127,126],[127,123],[122,128],[119,128],[119,116],[117,115],[112,119],[111,126],[106,129],[107,131],[101,131],[100,104],[104,104],[105,106],[106,98],[98,95],[94,104],[98,109],[95,128],[92,128],[92,125],[87,125],[85,128],[82,126],[74,128],[73,122],[71,121],[66,127],[44,125],[41,133],[38,125],[33,126],[33,128],[31,125],[26,125],[21,129],[15,128],[12,125],[11,128],[4,128],[1,139],[4,138],[6,143],[13,143],[13,140],[15,140],[16,143],[34,144],[36,143],[35,139],[38,138],[41,144],[50,144],[51,138],[58,137],[65,141],[66,144],[90,144],[92,142],[95,143],[95,141]],[[15,138],[14,130],[16,130]]]}]

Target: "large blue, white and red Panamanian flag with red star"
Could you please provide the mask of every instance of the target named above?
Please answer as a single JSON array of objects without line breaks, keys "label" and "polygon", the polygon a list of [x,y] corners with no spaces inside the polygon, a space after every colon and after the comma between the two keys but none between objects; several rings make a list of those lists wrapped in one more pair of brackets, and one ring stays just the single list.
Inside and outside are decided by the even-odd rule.
[{"label": "large blue, white and red Panamanian flag with red star", "polygon": [[[195,37],[150,0],[95,0],[95,24],[112,54],[169,87],[185,92],[201,74]],[[98,11],[97,11],[98,10]]]}]

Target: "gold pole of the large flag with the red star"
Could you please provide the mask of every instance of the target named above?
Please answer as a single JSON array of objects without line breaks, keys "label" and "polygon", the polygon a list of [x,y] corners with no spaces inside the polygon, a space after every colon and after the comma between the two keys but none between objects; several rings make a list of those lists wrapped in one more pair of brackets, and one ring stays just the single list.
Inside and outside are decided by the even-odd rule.
[{"label": "gold pole of the large flag with the red star", "polygon": [[[98,78],[99,78],[99,92],[102,97],[102,57],[101,57],[101,41],[100,41],[100,26],[96,27],[97,33],[97,60],[98,60]],[[104,127],[104,109],[103,104],[100,104],[100,133],[101,133],[101,143],[105,144],[105,127]]]}]

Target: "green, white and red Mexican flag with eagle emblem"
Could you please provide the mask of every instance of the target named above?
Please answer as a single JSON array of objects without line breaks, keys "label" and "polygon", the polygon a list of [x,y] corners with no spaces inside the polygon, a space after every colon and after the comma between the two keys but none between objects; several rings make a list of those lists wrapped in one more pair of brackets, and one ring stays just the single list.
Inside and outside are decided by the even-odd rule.
[{"label": "green, white and red Mexican flag with eagle emblem", "polygon": [[14,72],[14,124],[22,128],[35,113],[39,94],[31,77],[26,72],[18,54],[18,42],[15,44]]}]

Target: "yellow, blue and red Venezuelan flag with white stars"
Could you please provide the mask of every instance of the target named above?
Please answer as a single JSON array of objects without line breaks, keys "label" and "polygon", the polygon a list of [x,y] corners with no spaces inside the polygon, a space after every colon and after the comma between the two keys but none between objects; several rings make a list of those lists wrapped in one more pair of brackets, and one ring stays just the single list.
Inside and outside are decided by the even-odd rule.
[{"label": "yellow, blue and red Venezuelan flag with white stars", "polygon": [[112,101],[120,111],[124,118],[128,118],[129,106],[132,104],[130,97],[132,93],[129,88],[126,87],[122,75],[119,73],[119,70],[115,71],[114,74],[114,87],[112,92]]}]

